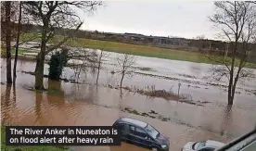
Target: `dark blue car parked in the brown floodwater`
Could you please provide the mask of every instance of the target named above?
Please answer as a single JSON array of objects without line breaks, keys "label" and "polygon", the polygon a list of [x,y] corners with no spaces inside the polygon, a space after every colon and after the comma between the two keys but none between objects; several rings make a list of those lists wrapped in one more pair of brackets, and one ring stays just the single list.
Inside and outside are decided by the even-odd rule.
[{"label": "dark blue car parked in the brown floodwater", "polygon": [[121,118],[116,120],[113,126],[121,127],[124,142],[147,147],[153,151],[169,150],[169,138],[146,122]]}]

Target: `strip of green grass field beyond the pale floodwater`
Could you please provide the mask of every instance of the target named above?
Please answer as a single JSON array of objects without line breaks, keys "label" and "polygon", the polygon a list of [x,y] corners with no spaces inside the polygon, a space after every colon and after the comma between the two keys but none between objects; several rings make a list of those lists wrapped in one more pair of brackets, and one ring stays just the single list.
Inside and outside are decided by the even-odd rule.
[{"label": "strip of green grass field beyond the pale floodwater", "polygon": [[[27,40],[30,37],[40,36],[38,33],[25,33],[21,35],[21,40]],[[55,36],[49,43],[58,43],[63,39],[62,36]],[[40,38],[36,38],[33,41],[40,42]],[[139,44],[123,44],[116,42],[108,42],[108,41],[99,41],[99,40],[91,40],[91,39],[83,39],[83,38],[73,38],[66,42],[66,45],[72,47],[86,47],[93,49],[101,49],[109,52],[116,53],[127,53],[130,55],[143,56],[143,57],[159,57],[173,60],[183,60],[190,62],[198,62],[198,63],[210,63],[216,64],[211,61],[209,58],[205,57],[205,55],[198,52],[187,52],[182,50],[174,50],[174,49],[166,49],[153,47],[149,45],[139,45]],[[238,61],[236,62],[236,65]],[[247,63],[246,67],[256,68],[256,64]]]}]

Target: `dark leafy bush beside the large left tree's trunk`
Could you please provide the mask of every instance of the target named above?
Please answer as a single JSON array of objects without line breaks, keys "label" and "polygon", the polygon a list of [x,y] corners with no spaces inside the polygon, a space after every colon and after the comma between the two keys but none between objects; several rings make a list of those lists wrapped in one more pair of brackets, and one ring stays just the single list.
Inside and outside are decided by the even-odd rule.
[{"label": "dark leafy bush beside the large left tree's trunk", "polygon": [[57,52],[54,55],[52,55],[48,65],[49,68],[49,79],[58,81],[60,79],[60,76],[62,74],[63,68],[67,64],[67,53],[65,51],[62,51],[61,53]]}]

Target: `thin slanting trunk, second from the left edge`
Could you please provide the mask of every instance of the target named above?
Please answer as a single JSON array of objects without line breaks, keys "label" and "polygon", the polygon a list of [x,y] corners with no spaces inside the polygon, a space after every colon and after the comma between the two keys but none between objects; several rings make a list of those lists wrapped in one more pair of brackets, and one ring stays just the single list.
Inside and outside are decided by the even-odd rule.
[{"label": "thin slanting trunk, second from the left edge", "polygon": [[16,82],[16,67],[17,67],[17,59],[18,59],[18,50],[19,50],[19,35],[21,30],[21,1],[19,2],[19,22],[18,22],[18,29],[17,29],[17,39],[16,39],[16,50],[15,50],[15,58],[14,58],[14,65],[13,65],[13,84]]}]

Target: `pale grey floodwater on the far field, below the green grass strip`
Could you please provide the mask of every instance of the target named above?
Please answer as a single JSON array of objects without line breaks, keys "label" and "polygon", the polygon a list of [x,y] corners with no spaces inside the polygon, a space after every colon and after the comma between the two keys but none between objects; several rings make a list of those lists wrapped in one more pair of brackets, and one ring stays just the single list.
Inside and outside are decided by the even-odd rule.
[{"label": "pale grey floodwater on the far field, below the green grass strip", "polygon": [[[23,47],[32,47],[36,43],[23,44]],[[83,48],[70,47],[71,51],[82,51]],[[87,53],[92,51],[99,54],[100,50],[85,49]],[[36,54],[36,53],[35,53]],[[100,70],[99,83],[118,85],[121,79],[119,74],[111,74],[112,70],[118,70],[116,66],[116,58],[122,55],[118,53],[104,52],[103,53],[103,69]],[[49,56],[47,57],[49,58]],[[225,77],[221,82],[216,82],[212,79],[211,64],[193,63],[187,61],[177,61],[170,59],[161,59],[155,57],[135,57],[135,64],[133,71],[140,74],[132,74],[132,77],[126,77],[123,80],[124,86],[129,87],[151,87],[154,86],[157,90],[172,90],[174,93],[178,92],[178,85],[181,83],[180,93],[191,95],[193,100],[198,101],[211,101],[214,103],[226,103],[226,88],[220,85],[227,85]],[[70,62],[81,62],[78,60],[72,60]],[[83,61],[82,61],[83,62]],[[90,63],[86,63],[91,65]],[[148,68],[149,70],[142,70],[138,68]],[[34,68],[30,69],[33,71]],[[79,69],[76,69],[78,72]],[[251,73],[256,75],[256,69],[247,69]],[[96,69],[83,69],[80,73],[79,82],[83,83],[95,83],[96,82]],[[47,68],[45,68],[45,74],[47,74]],[[152,76],[145,76],[143,74],[149,74]],[[157,77],[167,77],[169,80]],[[74,69],[66,69],[63,74],[63,78],[76,79]],[[172,80],[170,80],[170,78]],[[203,93],[202,93],[203,92]],[[237,82],[237,91],[235,97],[235,104],[237,106],[244,106],[244,104],[250,107],[251,102],[255,102],[256,94],[256,78],[240,79]],[[243,101],[241,101],[243,100]],[[246,102],[246,103],[245,103]],[[254,104],[255,105],[255,104]]]}]

